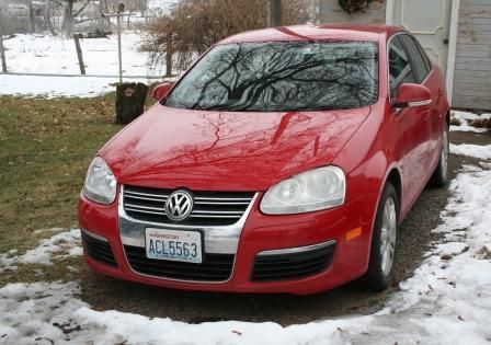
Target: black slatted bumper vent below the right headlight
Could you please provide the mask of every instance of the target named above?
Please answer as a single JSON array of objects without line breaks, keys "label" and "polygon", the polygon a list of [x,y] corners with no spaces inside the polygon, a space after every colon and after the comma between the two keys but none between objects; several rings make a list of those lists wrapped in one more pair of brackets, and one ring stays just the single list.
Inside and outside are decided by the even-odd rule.
[{"label": "black slatted bumper vent below the right headlight", "polygon": [[335,244],[308,252],[258,255],[252,281],[298,279],[326,271],[332,263]]}]

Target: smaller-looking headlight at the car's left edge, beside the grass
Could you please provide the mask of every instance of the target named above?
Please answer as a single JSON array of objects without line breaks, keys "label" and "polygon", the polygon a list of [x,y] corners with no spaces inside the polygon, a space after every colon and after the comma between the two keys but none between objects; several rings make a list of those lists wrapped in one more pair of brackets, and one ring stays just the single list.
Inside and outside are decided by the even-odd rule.
[{"label": "smaller-looking headlight at the car's left edge, beside the grass", "polygon": [[111,204],[116,197],[116,179],[107,163],[100,157],[95,157],[90,163],[83,194],[101,204]]}]

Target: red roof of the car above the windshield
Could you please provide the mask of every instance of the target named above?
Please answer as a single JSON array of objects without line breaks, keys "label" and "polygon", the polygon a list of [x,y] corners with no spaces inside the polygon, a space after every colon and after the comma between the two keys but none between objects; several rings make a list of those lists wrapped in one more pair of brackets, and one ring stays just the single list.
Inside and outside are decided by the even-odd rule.
[{"label": "red roof of the car above the windshield", "polygon": [[373,24],[320,24],[278,26],[243,32],[222,39],[219,44],[274,42],[274,41],[378,41],[404,31],[400,26]]}]

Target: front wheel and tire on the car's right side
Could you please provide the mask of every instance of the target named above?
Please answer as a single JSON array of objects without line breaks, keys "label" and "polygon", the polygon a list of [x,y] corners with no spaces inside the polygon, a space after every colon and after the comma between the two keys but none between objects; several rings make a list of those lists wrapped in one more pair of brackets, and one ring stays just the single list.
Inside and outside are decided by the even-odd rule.
[{"label": "front wheel and tire on the car's right side", "polygon": [[365,275],[367,287],[382,291],[392,280],[399,229],[399,198],[390,182],[384,187],[372,234],[370,261]]}]

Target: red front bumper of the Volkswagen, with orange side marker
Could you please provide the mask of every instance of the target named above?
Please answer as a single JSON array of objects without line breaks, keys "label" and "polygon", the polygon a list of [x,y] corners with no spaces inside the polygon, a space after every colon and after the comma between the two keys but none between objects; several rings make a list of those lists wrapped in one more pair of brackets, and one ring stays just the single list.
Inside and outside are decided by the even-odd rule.
[{"label": "red front bumper of the Volkswagen, with orange side marker", "polygon": [[[117,203],[99,205],[81,195],[79,221],[84,238],[85,261],[96,272],[126,280],[176,289],[229,292],[313,294],[353,280],[366,272],[376,194],[365,195],[334,209],[288,216],[263,215],[259,210],[259,200],[260,197],[251,204],[236,246],[225,241],[221,253],[219,240],[210,246],[212,253],[207,257],[219,261],[221,267],[227,263],[230,265],[232,256],[230,273],[219,279],[198,281],[185,276],[189,267],[172,266],[171,272],[176,275],[162,277],[157,276],[156,271],[145,271],[145,265],[136,266],[135,262],[147,258],[145,252],[141,254],[141,246],[135,246],[136,242],[127,242],[122,237],[122,222],[128,219],[121,217]],[[104,251],[104,244],[113,261],[111,257],[101,260],[104,257],[102,254],[98,256],[98,251]],[[208,251],[206,246],[205,251]],[[275,268],[281,273],[286,269],[286,278],[281,274],[279,278],[274,278],[271,269],[259,269],[260,264],[271,267],[282,258],[292,258],[294,254],[297,256],[293,262],[290,260],[289,264]],[[274,262],[271,263],[271,260]],[[296,267],[302,267],[302,271],[298,274]],[[307,269],[306,274],[305,267],[311,271]],[[201,268],[207,272],[206,266]],[[168,266],[159,269],[170,272]],[[190,269],[196,271],[194,266]],[[258,272],[270,273],[261,276]]]}]

